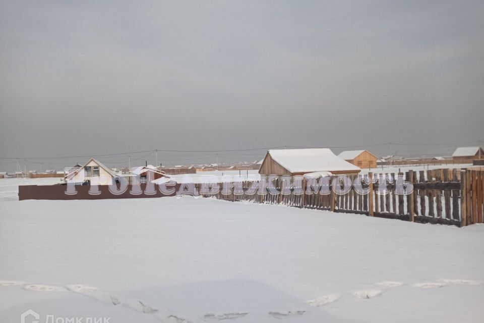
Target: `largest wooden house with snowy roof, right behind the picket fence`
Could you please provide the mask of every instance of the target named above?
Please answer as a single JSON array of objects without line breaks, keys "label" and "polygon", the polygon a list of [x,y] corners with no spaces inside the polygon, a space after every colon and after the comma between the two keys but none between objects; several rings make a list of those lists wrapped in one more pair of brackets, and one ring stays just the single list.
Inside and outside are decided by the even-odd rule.
[{"label": "largest wooden house with snowy roof, right behind the picket fence", "polygon": [[336,156],[331,149],[275,149],[267,151],[261,175],[304,175],[315,172],[357,174],[361,170]]}]

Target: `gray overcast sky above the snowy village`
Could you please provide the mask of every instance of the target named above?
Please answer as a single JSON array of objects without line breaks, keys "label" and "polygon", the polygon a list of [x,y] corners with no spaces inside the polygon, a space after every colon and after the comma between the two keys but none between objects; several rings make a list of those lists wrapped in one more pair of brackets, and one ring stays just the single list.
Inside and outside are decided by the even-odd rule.
[{"label": "gray overcast sky above the snowy village", "polygon": [[484,140],[482,1],[0,4],[0,171],[10,157],[387,142],[438,155]]}]

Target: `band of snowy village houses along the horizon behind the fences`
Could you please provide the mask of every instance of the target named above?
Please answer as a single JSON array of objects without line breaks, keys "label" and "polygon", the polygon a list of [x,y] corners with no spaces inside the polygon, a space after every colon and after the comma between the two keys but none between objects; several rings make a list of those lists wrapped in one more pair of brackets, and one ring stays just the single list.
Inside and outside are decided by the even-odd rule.
[{"label": "band of snowy village houses along the horizon behind the fences", "polygon": [[[384,167],[426,166],[426,165],[484,165],[484,150],[481,147],[459,147],[452,156],[403,158],[398,156],[378,157],[368,150],[349,150],[334,154],[329,148],[274,149],[265,157],[252,163],[240,161],[222,164],[193,164],[176,166],[144,166],[109,168],[101,161],[91,158],[84,165],[73,165],[65,170],[43,172],[22,170],[13,174],[0,172],[0,178],[48,178],[58,177],[65,182],[82,185],[93,178],[104,178],[111,184],[115,178],[125,177],[131,182],[134,176],[146,177],[151,172],[155,179],[170,175],[196,174],[203,172],[229,172],[258,170],[261,175],[305,175],[327,172],[331,174],[357,174],[361,169]],[[103,184],[103,183],[101,183]]]}]

